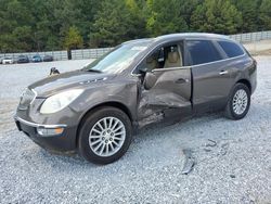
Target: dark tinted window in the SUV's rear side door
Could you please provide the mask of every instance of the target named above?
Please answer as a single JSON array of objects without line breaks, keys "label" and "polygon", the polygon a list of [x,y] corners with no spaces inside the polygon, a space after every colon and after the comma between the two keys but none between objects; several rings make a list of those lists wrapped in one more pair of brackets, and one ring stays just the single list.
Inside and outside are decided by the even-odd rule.
[{"label": "dark tinted window in the SUV's rear side door", "polygon": [[222,60],[218,50],[208,40],[188,41],[188,51],[192,61],[191,65]]}]

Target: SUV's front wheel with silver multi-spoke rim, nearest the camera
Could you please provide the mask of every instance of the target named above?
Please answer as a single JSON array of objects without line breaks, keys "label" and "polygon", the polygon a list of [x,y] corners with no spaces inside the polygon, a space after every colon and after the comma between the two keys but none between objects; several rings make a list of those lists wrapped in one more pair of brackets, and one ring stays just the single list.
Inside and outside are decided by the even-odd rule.
[{"label": "SUV's front wheel with silver multi-spoke rim, nearest the camera", "polygon": [[103,106],[85,117],[79,130],[78,151],[89,162],[109,164],[127,152],[131,139],[131,122],[127,114],[116,107]]}]

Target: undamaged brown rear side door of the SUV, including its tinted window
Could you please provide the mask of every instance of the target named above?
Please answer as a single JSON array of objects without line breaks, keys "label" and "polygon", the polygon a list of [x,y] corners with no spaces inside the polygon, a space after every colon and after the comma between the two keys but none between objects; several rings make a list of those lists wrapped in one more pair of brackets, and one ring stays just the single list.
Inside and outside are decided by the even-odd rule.
[{"label": "undamaged brown rear side door of the SUV, including its tinted window", "polygon": [[186,40],[185,50],[193,76],[192,101],[197,112],[224,106],[232,87],[227,55],[211,40]]}]

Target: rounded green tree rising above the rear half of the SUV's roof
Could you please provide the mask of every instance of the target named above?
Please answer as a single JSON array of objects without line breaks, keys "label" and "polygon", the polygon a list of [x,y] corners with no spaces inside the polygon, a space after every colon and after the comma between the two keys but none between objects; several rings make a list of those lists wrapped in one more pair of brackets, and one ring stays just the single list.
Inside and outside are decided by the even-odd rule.
[{"label": "rounded green tree rising above the rear half of the SUV's roof", "polygon": [[205,0],[191,17],[193,30],[234,34],[242,26],[242,14],[229,0]]}]

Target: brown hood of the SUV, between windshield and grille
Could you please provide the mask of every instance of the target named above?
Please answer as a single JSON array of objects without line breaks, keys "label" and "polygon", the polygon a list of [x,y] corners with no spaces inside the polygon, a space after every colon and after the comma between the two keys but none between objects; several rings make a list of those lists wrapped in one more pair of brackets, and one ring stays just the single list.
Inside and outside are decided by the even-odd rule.
[{"label": "brown hood of the SUV, between windshield and grille", "polygon": [[49,97],[56,92],[70,88],[91,86],[113,78],[114,75],[105,73],[92,73],[87,71],[74,71],[54,76],[48,76],[28,88],[34,89],[38,97]]}]

